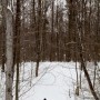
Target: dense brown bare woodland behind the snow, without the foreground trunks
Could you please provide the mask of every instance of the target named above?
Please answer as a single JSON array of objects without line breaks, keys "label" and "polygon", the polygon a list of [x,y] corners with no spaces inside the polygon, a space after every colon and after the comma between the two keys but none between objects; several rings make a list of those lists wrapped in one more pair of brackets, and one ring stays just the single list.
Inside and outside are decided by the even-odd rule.
[{"label": "dense brown bare woodland behind the snow, without the foreground trunks", "polygon": [[[37,61],[38,58],[40,61],[80,60],[79,37],[83,47],[83,58],[89,61],[100,60],[100,1],[66,0],[66,2],[41,0],[38,4],[37,0],[20,1],[21,61]],[[16,23],[16,0],[12,9]],[[4,17],[1,16],[0,62],[4,57],[3,21]],[[13,27],[16,28],[16,24]]]}]

